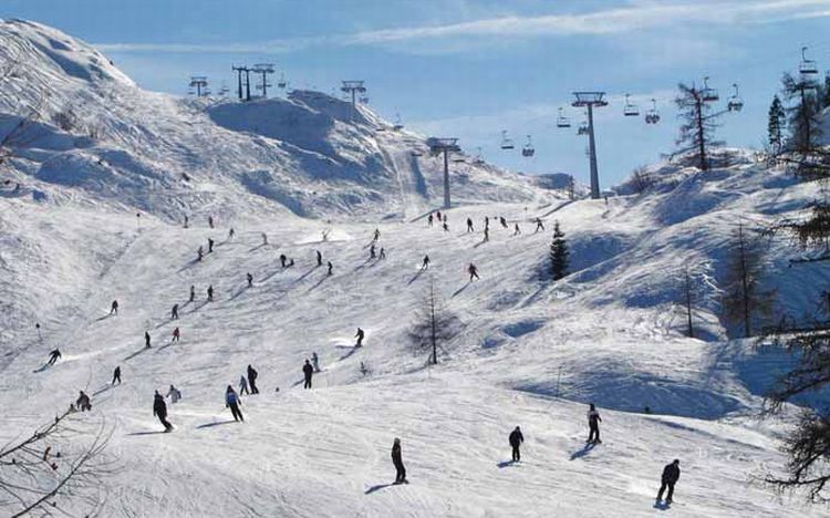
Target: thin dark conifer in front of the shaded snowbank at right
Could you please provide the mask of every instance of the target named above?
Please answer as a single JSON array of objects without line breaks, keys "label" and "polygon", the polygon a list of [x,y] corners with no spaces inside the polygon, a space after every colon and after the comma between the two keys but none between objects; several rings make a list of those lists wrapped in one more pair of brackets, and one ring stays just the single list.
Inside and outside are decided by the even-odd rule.
[{"label": "thin dark conifer in front of the shaded snowbank at right", "polygon": [[720,299],[724,319],[740,323],[744,338],[749,338],[753,335],[755,319],[769,314],[774,293],[760,289],[760,278],[764,274],[761,248],[757,242],[750,242],[743,224],[738,226],[727,261]]}]

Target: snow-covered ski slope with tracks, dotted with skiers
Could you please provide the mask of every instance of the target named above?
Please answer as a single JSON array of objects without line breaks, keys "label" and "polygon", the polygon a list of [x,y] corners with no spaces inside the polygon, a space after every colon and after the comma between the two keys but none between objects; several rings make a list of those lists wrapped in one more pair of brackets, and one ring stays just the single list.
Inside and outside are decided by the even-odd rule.
[{"label": "snow-covered ski slope with tracks, dotted with skiers", "polygon": [[[27,38],[66,38],[40,25],[2,27]],[[77,92],[95,91],[55,74]],[[112,427],[107,455],[123,468],[102,488],[101,516],[827,516],[827,507],[779,500],[750,484],[784,463],[777,437],[786,423],[754,418],[784,360],[727,342],[717,318],[737,222],[797,217],[819,195],[816,185],[796,184],[747,157],[707,174],[664,166],[670,179],[652,193],[606,205],[567,203],[521,177],[474,169],[444,232],[408,217],[437,204],[430,189],[439,177],[437,169],[424,173],[429,196],[419,195],[400,135],[381,132],[372,141],[350,123],[336,134],[309,130],[289,144],[274,123],[279,116],[260,121],[255,105],[203,106],[115,82],[132,104],[100,106],[96,120],[113,127],[131,121],[124,127],[135,130],[120,133],[121,143],[101,138],[79,149],[58,148],[63,133],[44,126],[52,147],[27,143],[3,170],[23,184],[23,194],[4,187],[0,197],[0,441],[49,421],[85,390],[93,411],[79,418]],[[287,103],[261,107],[294,110]],[[139,112],[142,124],[133,125]],[[180,125],[187,117],[194,117],[185,125],[190,133]],[[309,179],[319,174],[310,164],[347,155],[362,138],[366,145],[388,139],[376,154],[354,153],[383,157],[376,159],[396,169]],[[257,146],[270,151],[248,158]],[[303,162],[307,153],[311,163]],[[105,154],[124,160],[111,158],[118,165],[104,174],[92,165]],[[289,203],[255,194],[240,179],[242,168],[225,170],[237,160],[255,170],[255,162],[279,156],[284,165],[269,170],[302,185],[308,197]],[[60,167],[43,173],[50,163]],[[142,169],[147,164],[153,168]],[[176,177],[183,164],[199,165],[186,169],[194,176],[188,185]],[[332,168],[346,169],[357,170]],[[387,190],[353,200],[360,210],[341,197],[387,173]],[[91,179],[70,182],[76,177]],[[519,199],[497,198],[506,193]],[[326,218],[303,218],[291,206],[304,200],[308,207],[314,196]],[[185,214],[187,229],[179,222]],[[208,215],[217,228],[208,228]],[[490,240],[481,242],[488,216]],[[537,216],[546,231],[533,232]],[[465,231],[467,217],[473,234]],[[540,269],[554,219],[568,234],[572,273],[551,283],[540,280]],[[516,222],[520,236],[513,236]],[[385,260],[370,259],[375,228]],[[208,237],[215,251],[196,261]],[[769,246],[768,284],[787,302],[779,311],[815,312],[830,279],[820,263],[790,268],[787,245]],[[317,267],[315,250],[332,261],[331,277]],[[295,265],[282,269],[281,253]],[[432,265],[422,272],[425,255]],[[467,281],[469,263],[480,280]],[[676,302],[684,267],[701,284],[695,322],[706,341],[682,336]],[[464,328],[442,363],[427,369],[425,355],[411,351],[407,331],[430,279]],[[197,297],[189,303],[191,284]],[[209,284],[212,302],[206,301]],[[120,314],[108,317],[114,299]],[[174,322],[175,303],[180,318]],[[181,341],[170,344],[175,327]],[[366,340],[355,350],[357,327]],[[153,339],[148,350],[145,331]],[[42,369],[55,348],[63,359]],[[312,352],[323,372],[304,391],[301,365]],[[246,422],[231,423],[225,387],[237,385],[248,364],[260,373],[261,393],[243,396]],[[110,387],[116,365],[124,383]],[[168,404],[176,429],[162,434],[152,396],[169,384],[184,400]],[[593,448],[584,445],[588,402],[603,418],[603,444]],[[526,444],[522,462],[511,465],[507,435],[517,425]],[[388,486],[396,436],[411,480],[405,486]],[[654,508],[660,473],[673,458],[683,470],[677,503]]]}]

